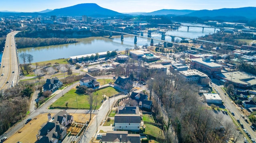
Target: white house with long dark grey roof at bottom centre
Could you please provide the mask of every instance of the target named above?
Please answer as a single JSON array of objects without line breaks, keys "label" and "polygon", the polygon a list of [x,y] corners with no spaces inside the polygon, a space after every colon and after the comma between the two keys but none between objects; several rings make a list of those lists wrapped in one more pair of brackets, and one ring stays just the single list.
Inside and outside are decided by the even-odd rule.
[{"label": "white house with long dark grey roof at bottom centre", "polygon": [[114,130],[139,131],[141,117],[138,114],[116,114]]}]

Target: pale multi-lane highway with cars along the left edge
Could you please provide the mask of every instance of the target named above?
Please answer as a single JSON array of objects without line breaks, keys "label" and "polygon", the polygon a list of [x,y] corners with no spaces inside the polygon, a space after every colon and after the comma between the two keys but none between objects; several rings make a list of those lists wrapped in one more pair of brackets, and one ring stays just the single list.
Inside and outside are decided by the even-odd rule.
[{"label": "pale multi-lane highway with cars along the left edge", "polygon": [[1,68],[0,68],[0,90],[16,85],[19,76],[19,65],[16,51],[16,43],[14,36],[19,31],[13,31],[6,36],[4,53],[2,55]]}]

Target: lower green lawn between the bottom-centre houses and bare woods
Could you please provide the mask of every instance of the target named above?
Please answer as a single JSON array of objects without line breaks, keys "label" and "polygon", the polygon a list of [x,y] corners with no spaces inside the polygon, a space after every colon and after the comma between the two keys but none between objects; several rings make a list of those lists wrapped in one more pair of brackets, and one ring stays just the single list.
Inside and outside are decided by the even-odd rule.
[{"label": "lower green lawn between the bottom-centre houses and bare woods", "polygon": [[145,125],[146,125],[145,133],[147,135],[151,135],[152,137],[156,137],[160,139],[165,139],[164,132],[162,131],[162,129],[150,124],[145,124]]}]

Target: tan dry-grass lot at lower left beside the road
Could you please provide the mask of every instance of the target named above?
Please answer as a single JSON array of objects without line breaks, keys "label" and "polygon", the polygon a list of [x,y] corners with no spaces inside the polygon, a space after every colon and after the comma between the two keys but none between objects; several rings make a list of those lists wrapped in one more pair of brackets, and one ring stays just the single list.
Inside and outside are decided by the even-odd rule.
[{"label": "tan dry-grass lot at lower left beside the road", "polygon": [[[36,118],[25,124],[25,126],[22,127],[18,133],[15,133],[12,135],[12,137],[7,139],[5,143],[17,143],[18,141],[22,143],[34,143],[41,125],[48,121],[47,114],[48,113],[36,116]],[[52,114],[52,116],[54,115]],[[26,121],[24,121],[24,123],[26,123]]]}]

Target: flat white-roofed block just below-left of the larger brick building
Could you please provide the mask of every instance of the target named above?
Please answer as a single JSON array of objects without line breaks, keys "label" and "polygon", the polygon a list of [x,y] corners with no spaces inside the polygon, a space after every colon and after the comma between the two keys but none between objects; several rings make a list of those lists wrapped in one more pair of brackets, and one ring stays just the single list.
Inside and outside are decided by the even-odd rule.
[{"label": "flat white-roofed block just below-left of the larger brick building", "polygon": [[208,85],[210,80],[206,74],[198,70],[180,71],[180,75],[186,82],[198,82],[201,85]]}]

